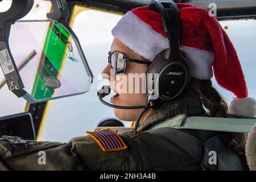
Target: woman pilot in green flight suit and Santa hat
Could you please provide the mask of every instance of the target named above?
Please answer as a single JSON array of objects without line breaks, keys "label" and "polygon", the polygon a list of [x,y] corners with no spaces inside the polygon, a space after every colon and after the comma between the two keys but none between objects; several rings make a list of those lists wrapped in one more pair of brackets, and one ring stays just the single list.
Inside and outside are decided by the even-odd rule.
[{"label": "woman pilot in green flight suit and Santa hat", "polygon": [[[181,23],[180,49],[191,71],[191,80],[183,94],[172,101],[147,108],[143,115],[143,109],[115,108],[116,117],[124,121],[136,121],[141,116],[137,131],[122,135],[106,129],[87,132],[88,135],[73,138],[68,143],[3,137],[0,139],[0,169],[247,169],[244,158],[246,135],[243,133],[184,129],[176,134],[173,130],[170,131],[174,134],[173,142],[152,133],[174,122],[184,122],[189,116],[226,118],[228,113],[251,117],[255,115],[255,100],[247,97],[246,82],[237,53],[217,19],[207,10],[193,5],[178,3],[177,6]],[[102,71],[102,77],[110,81],[110,88],[116,93],[110,102],[119,106],[147,105],[148,93],[144,90],[146,79],[143,79],[143,75],[147,76],[151,64],[161,64],[157,60],[158,54],[169,47],[162,18],[149,6],[138,7],[119,20],[112,34],[114,40],[109,64]],[[236,95],[229,107],[212,85],[210,78],[213,72],[218,84]],[[167,76],[179,74],[182,73],[168,72]],[[136,84],[134,77],[129,75],[142,75],[142,78]],[[139,92],[135,92],[135,89]],[[188,136],[185,143],[191,145],[189,150],[200,154],[199,158],[180,147],[184,140],[177,135]],[[191,144],[192,138],[204,143],[216,136],[220,137],[215,146],[223,146],[225,152],[217,152],[220,159],[218,164],[214,160],[212,164],[206,164],[202,162],[204,149],[200,145]],[[214,150],[217,148],[213,147]],[[38,163],[39,151],[45,152],[46,164]]]}]

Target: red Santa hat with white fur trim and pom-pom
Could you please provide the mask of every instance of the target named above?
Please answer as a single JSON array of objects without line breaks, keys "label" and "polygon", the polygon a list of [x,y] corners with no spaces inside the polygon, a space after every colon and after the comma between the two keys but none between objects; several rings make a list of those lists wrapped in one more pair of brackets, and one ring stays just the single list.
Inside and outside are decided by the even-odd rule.
[{"label": "red Santa hat with white fur trim and pom-pom", "polygon": [[[185,3],[177,6],[181,22],[180,48],[189,62],[192,77],[209,80],[214,72],[218,84],[236,96],[229,106],[229,114],[255,116],[256,101],[248,97],[236,50],[218,20],[197,6]],[[149,61],[168,48],[161,16],[148,6],[127,12],[112,34]]]}]

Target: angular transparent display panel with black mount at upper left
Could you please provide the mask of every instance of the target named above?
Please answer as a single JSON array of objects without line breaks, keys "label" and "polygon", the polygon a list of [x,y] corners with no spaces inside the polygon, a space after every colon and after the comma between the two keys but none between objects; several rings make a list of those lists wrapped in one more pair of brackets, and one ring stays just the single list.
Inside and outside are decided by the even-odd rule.
[{"label": "angular transparent display panel with black mount at upper left", "polygon": [[88,92],[93,75],[67,23],[67,2],[35,2],[14,0],[0,13],[0,89],[7,84],[31,104]]}]

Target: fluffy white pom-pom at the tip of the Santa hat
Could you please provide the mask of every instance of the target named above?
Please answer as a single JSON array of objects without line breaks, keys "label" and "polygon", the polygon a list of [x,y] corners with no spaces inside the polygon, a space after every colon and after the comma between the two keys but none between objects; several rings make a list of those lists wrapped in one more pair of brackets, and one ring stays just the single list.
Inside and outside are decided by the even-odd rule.
[{"label": "fluffy white pom-pom at the tip of the Santa hat", "polygon": [[230,102],[229,114],[243,115],[247,117],[255,117],[256,115],[256,100],[252,97],[233,98]]}]

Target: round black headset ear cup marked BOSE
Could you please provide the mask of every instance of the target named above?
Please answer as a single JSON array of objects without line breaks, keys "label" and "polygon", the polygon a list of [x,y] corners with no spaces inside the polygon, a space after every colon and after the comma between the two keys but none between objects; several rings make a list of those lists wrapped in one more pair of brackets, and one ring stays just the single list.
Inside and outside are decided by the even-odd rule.
[{"label": "round black headset ear cup marked BOSE", "polygon": [[147,101],[155,98],[151,101],[154,104],[169,102],[181,96],[190,81],[189,65],[185,57],[181,55],[179,60],[170,60],[164,56],[165,52],[160,52],[147,70]]}]

